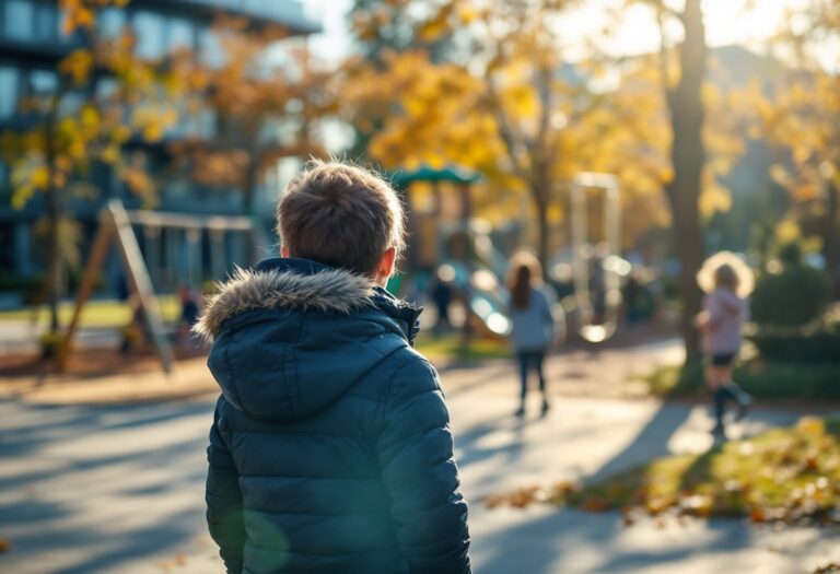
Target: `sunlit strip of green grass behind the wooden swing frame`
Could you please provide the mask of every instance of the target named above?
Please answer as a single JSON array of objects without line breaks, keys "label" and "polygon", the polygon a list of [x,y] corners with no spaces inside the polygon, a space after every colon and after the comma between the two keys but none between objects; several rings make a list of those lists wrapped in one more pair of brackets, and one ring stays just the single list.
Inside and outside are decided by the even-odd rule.
[{"label": "sunlit strip of green grass behind the wooden swing frame", "polygon": [[[158,297],[161,313],[166,321],[176,321],[180,315],[180,304],[175,295]],[[58,306],[58,319],[67,325],[73,315],[73,302],[62,302]],[[0,321],[31,321],[35,314],[36,324],[49,324],[49,308],[42,305],[37,312],[33,307],[0,312]],[[88,328],[120,328],[131,321],[131,307],[128,303],[116,300],[89,301],[82,308],[81,327]]]}]

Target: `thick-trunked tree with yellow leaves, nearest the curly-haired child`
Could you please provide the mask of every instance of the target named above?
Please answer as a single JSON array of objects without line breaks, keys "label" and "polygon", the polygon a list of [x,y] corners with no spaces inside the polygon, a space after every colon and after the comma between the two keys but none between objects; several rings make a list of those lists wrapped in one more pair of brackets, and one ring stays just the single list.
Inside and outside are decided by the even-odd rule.
[{"label": "thick-trunked tree with yellow leaves, nearest the curly-haired child", "polygon": [[[666,143],[658,150],[665,168],[660,165],[658,173],[663,176],[661,185],[669,211],[674,253],[680,263],[679,327],[686,360],[692,361],[700,354],[692,319],[702,303],[696,276],[704,257],[703,216],[730,208],[728,194],[718,177],[725,175],[744,152],[745,140],[739,136],[746,131],[744,108],[751,91],[722,94],[707,80],[709,50],[700,0],[686,0],[681,10],[663,0],[628,0],[622,5],[633,3],[650,7],[660,28],[658,54],[639,58],[638,69],[626,80],[646,84],[641,91],[649,97],[661,98],[660,109],[665,116]],[[677,27],[682,34],[673,42],[668,31]],[[654,78],[656,87],[652,89]],[[627,104],[619,108],[632,109]],[[638,114],[623,118],[628,129],[639,132],[637,141],[642,145],[645,140],[663,141],[662,137],[649,140],[644,136],[662,126],[655,116],[652,122],[651,119]],[[648,122],[652,125],[645,126]],[[652,152],[656,155],[657,151]]]}]

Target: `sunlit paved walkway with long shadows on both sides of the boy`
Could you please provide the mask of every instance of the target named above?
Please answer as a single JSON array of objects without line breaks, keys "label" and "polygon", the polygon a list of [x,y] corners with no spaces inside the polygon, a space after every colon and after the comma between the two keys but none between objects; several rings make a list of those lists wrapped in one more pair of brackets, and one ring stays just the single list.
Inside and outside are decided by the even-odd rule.
[{"label": "sunlit paved walkway with long shadows on both sides of the boy", "polygon": [[[510,488],[707,449],[711,421],[702,407],[585,393],[617,389],[627,372],[675,352],[663,343],[597,360],[558,358],[549,365],[552,410],[538,418],[534,397],[524,421],[510,414],[517,390],[506,363],[444,373],[477,572],[786,574],[840,558],[836,530],[774,531],[742,520],[623,527],[615,514],[483,507],[485,495]],[[0,538],[12,544],[0,571],[220,572],[203,524],[211,409],[207,396],[122,407],[0,401]],[[797,417],[759,410],[733,430],[750,435]]]}]

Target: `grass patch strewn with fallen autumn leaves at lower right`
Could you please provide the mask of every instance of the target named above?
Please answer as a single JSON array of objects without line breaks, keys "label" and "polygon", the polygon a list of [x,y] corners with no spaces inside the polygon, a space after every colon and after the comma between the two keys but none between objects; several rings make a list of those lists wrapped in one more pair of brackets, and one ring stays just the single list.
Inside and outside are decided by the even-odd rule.
[{"label": "grass patch strewn with fallen autumn leaves at lower right", "polygon": [[724,443],[702,455],[670,456],[603,482],[528,488],[491,496],[490,506],[532,502],[583,509],[697,517],[746,516],[756,523],[840,524],[840,419],[803,418],[795,426]]}]

